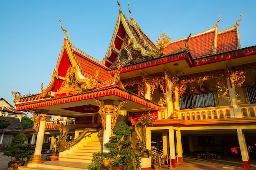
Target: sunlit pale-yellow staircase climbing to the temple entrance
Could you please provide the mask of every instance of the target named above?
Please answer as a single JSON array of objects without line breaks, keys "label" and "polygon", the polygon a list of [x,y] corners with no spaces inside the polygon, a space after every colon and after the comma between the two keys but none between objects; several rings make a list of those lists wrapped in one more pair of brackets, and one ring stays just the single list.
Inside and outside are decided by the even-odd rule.
[{"label": "sunlit pale-yellow staircase climbing to the temple entrance", "polygon": [[87,170],[92,162],[92,153],[101,151],[102,147],[102,138],[93,139],[82,147],[70,150],[65,157],[59,157],[58,161],[45,161],[36,167],[20,166],[18,170]]}]

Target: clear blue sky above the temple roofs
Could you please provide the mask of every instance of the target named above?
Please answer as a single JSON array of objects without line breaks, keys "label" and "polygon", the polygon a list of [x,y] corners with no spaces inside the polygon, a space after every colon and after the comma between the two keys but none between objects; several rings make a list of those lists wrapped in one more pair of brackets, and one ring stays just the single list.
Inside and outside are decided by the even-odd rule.
[{"label": "clear blue sky above the temple roofs", "polygon": [[[128,1],[119,0],[130,19]],[[162,31],[177,40],[239,22],[242,48],[256,45],[256,0],[129,0],[133,18],[156,43]],[[41,92],[54,71],[65,34],[77,48],[103,60],[119,15],[116,0],[1,0],[0,1],[0,98],[13,104],[11,91],[21,95]]]}]

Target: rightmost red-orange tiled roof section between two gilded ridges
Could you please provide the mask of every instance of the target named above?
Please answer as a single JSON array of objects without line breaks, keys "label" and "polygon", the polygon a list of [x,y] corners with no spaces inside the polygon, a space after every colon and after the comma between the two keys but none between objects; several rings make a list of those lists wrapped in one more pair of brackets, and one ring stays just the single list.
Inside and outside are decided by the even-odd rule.
[{"label": "rightmost red-orange tiled roof section between two gilded ridges", "polygon": [[234,51],[238,48],[238,38],[236,29],[218,33],[217,39],[217,53],[225,53],[227,51]]}]

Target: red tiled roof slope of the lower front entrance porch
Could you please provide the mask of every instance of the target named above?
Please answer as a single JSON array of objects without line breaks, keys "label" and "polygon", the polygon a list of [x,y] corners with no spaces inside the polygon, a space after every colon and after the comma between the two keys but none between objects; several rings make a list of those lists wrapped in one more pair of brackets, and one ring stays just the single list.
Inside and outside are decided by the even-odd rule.
[{"label": "red tiled roof slope of the lower front entrance porch", "polygon": [[[97,64],[96,62],[90,60],[87,57],[84,57],[82,55],[74,54],[76,64],[81,69],[81,73],[84,72],[86,75],[85,77],[92,79],[95,78],[96,70],[99,71],[98,81],[100,82],[107,82],[112,81],[114,78],[110,75],[108,72],[108,69],[104,66],[101,66]],[[83,74],[83,73],[82,73]]]}]

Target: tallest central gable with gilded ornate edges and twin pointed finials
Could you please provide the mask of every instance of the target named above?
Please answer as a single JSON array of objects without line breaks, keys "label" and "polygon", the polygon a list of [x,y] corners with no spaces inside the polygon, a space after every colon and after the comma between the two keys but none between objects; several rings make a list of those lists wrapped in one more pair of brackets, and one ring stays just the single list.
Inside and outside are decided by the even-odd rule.
[{"label": "tallest central gable with gilded ornate edges and twin pointed finials", "polygon": [[[130,8],[129,12],[131,14],[130,22],[128,22],[120,7],[113,37],[104,57],[104,65],[110,69],[117,68],[124,60],[126,60],[124,65],[129,65],[157,58],[161,54],[157,46],[133,19]],[[122,50],[126,51],[125,56],[121,56]]]}]

